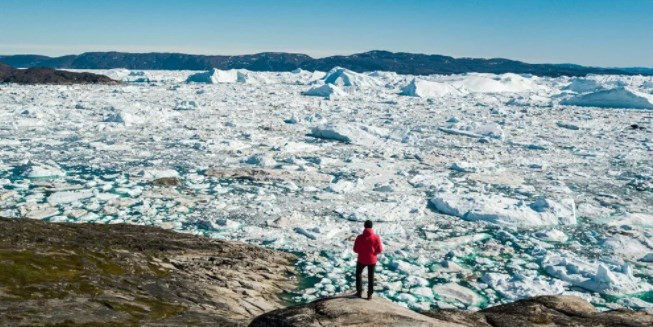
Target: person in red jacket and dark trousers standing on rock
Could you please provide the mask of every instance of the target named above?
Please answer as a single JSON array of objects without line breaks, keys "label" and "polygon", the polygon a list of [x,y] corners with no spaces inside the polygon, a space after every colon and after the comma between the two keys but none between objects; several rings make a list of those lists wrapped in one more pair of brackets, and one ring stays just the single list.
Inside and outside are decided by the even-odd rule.
[{"label": "person in red jacket and dark trousers standing on rock", "polygon": [[356,296],[363,297],[363,282],[361,275],[367,267],[367,299],[372,299],[374,293],[374,268],[376,267],[376,256],[383,252],[381,238],[372,230],[372,221],[365,221],[363,234],[356,237],[354,252],[358,254],[356,262]]}]

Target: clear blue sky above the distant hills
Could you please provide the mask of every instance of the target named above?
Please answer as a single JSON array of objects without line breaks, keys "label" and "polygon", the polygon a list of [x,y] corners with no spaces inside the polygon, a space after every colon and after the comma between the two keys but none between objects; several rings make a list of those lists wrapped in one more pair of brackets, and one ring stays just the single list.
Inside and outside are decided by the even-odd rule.
[{"label": "clear blue sky above the distant hills", "polygon": [[0,0],[0,54],[373,49],[653,67],[653,0]]}]

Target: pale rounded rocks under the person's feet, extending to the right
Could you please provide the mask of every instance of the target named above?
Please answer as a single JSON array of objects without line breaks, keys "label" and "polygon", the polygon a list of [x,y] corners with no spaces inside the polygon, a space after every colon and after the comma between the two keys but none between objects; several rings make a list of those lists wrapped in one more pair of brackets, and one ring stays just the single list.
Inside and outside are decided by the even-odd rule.
[{"label": "pale rounded rocks under the person's feet, extending to the right", "polygon": [[653,315],[631,310],[599,312],[574,296],[540,296],[478,312],[434,310],[418,314],[383,299],[321,299],[257,317],[250,327],[294,326],[645,327]]}]

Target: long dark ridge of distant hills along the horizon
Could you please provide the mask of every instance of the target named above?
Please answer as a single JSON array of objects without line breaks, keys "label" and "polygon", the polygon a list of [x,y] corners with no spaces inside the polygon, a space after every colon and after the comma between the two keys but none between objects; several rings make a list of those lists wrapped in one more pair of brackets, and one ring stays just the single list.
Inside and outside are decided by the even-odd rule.
[{"label": "long dark ridge of distant hills along the horizon", "polygon": [[305,54],[264,52],[250,55],[191,55],[183,53],[86,52],[80,55],[48,57],[41,55],[0,56],[0,62],[14,67],[66,69],[127,68],[142,70],[248,69],[251,71],[321,70],[340,66],[357,72],[391,71],[399,74],[517,73],[539,76],[584,76],[587,74],[644,74],[651,69],[600,68],[572,64],[529,64],[492,58],[453,58],[406,52],[374,50],[348,56],[312,58]]}]

